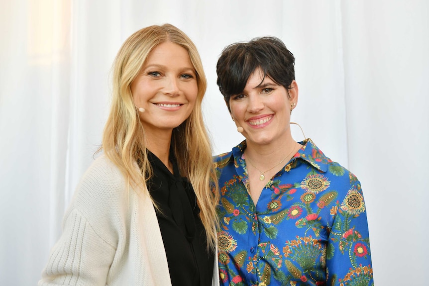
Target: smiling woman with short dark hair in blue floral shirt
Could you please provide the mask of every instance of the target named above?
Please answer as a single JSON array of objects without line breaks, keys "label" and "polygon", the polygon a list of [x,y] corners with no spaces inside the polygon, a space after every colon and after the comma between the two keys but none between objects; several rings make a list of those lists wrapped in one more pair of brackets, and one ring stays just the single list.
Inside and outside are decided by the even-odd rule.
[{"label": "smiling woman with short dark hair in blue floral shirt", "polygon": [[215,157],[221,285],[373,285],[357,178],[290,131],[295,58],[263,37],[226,47],[217,85],[246,138]]}]

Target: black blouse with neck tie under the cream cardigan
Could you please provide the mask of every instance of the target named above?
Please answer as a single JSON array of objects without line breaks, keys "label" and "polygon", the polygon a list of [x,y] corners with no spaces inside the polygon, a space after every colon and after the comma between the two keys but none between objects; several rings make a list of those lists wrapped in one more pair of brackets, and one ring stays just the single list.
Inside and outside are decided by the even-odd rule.
[{"label": "black blouse with neck tie under the cream cardigan", "polygon": [[170,155],[174,174],[150,151],[148,159],[153,176],[147,187],[161,210],[156,215],[172,285],[212,285],[214,254],[206,250],[206,231],[191,183],[180,177],[174,156]]}]

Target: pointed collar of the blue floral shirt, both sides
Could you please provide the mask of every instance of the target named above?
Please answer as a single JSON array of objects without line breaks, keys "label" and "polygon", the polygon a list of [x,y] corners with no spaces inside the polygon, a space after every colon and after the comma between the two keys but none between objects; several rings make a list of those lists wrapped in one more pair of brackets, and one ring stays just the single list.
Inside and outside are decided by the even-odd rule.
[{"label": "pointed collar of the blue floral shirt, both sides", "polygon": [[[332,162],[327,158],[323,152],[313,143],[312,139],[308,138],[304,141],[298,142],[303,147],[295,154],[294,158],[301,158],[302,160],[308,162],[310,165],[316,169],[322,171],[323,173],[327,171],[327,164]],[[242,141],[240,144],[232,148],[232,154],[230,159],[239,158],[243,155],[244,150],[246,149],[247,144],[246,140]]]}]

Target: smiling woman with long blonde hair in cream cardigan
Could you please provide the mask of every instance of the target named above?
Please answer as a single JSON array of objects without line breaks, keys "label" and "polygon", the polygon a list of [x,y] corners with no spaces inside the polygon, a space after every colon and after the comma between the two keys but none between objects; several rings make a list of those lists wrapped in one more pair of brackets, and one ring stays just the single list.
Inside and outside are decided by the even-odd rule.
[{"label": "smiling woman with long blonde hair in cream cardigan", "polygon": [[217,285],[215,173],[194,43],[170,24],[123,43],[102,151],[39,286]]}]

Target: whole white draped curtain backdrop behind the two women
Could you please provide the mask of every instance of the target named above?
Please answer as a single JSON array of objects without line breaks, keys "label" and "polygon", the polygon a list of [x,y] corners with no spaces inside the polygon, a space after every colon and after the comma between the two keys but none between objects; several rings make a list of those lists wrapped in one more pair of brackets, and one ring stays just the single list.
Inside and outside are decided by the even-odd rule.
[{"label": "whole white draped curtain backdrop behind the two women", "polygon": [[165,22],[200,51],[214,153],[243,139],[216,87],[222,48],[285,42],[292,120],[362,183],[375,284],[427,285],[427,0],[0,0],[0,285],[36,285],[100,146],[113,58],[131,33]]}]

